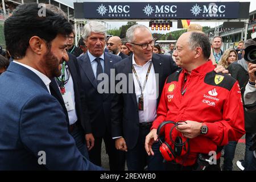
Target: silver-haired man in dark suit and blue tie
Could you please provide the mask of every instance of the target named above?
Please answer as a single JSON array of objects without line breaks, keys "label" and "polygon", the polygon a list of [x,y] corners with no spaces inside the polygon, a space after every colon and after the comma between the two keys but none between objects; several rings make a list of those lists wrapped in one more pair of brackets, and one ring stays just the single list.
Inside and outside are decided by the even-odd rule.
[{"label": "silver-haired man in dark suit and blue tie", "polygon": [[[96,31],[96,32],[94,32]],[[89,158],[94,164],[101,166],[101,143],[104,139],[106,152],[109,155],[110,170],[124,169],[124,157],[115,149],[111,138],[110,107],[113,94],[108,85],[102,86],[101,76],[110,78],[110,69],[121,57],[104,52],[106,28],[99,22],[89,22],[85,25],[82,37],[88,51],[77,58],[80,66],[82,89],[88,98],[90,124],[94,137],[94,147],[89,151]],[[107,81],[108,82],[108,81]]]}]

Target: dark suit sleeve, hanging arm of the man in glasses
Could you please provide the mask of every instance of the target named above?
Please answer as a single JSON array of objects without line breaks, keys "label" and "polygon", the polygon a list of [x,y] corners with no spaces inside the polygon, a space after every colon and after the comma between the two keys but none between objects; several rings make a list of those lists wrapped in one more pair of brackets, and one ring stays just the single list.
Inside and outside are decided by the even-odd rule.
[{"label": "dark suit sleeve, hanging arm of the man in glasses", "polygon": [[[119,64],[118,64],[119,65]],[[115,76],[117,76],[117,64],[114,65]],[[117,85],[119,81],[115,81],[115,85]],[[115,89],[114,96],[112,98],[111,105],[111,129],[112,129],[112,137],[122,137],[122,117],[123,117],[123,97],[122,93],[117,93]]]}]

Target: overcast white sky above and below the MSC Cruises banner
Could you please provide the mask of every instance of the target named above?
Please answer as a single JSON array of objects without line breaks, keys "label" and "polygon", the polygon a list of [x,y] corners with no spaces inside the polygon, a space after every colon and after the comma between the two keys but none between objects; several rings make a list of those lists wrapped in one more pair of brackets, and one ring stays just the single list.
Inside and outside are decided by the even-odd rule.
[{"label": "overcast white sky above and below the MSC Cruises banner", "polygon": [[[69,6],[72,6],[73,7],[73,2],[125,2],[125,1],[116,1],[116,0],[108,0],[108,1],[104,1],[104,0],[87,0],[87,1],[84,1],[84,0],[59,0],[60,2],[63,2],[63,3],[66,3],[67,5]],[[138,2],[137,1],[126,1],[126,2]],[[162,1],[153,1],[153,0],[140,0],[139,2],[172,2],[171,0],[162,0]],[[177,0],[177,1],[174,1],[174,2],[250,2],[250,12],[251,11],[254,11],[256,10],[256,1],[252,1],[252,0],[240,0],[240,1],[232,1],[232,0],[226,0],[226,1],[209,1],[209,0]],[[109,23],[109,26],[108,28],[119,28],[121,27],[123,24],[126,24],[127,22],[106,22],[106,23]],[[148,21],[147,22],[137,22],[139,24],[144,24],[146,26],[148,26]],[[209,27],[216,27],[218,26],[219,24],[222,24],[221,22],[191,22],[191,23],[200,23],[202,26],[209,26]],[[111,25],[110,25],[111,24]],[[174,22],[173,23],[173,27],[171,28],[170,31],[175,31],[177,30],[177,23]],[[170,31],[152,31],[153,33],[154,32],[160,32],[162,34],[166,34],[167,32],[170,32]]]}]

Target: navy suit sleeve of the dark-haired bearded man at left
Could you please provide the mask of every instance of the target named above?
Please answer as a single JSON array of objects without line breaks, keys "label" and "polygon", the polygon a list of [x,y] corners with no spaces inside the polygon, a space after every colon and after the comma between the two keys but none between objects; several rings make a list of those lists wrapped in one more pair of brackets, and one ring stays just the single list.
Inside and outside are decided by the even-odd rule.
[{"label": "navy suit sleeve of the dark-haired bearded man at left", "polygon": [[39,151],[46,152],[45,167],[49,170],[102,169],[81,155],[68,134],[59,102],[49,94],[27,101],[21,110],[19,131],[21,142],[36,158]]}]

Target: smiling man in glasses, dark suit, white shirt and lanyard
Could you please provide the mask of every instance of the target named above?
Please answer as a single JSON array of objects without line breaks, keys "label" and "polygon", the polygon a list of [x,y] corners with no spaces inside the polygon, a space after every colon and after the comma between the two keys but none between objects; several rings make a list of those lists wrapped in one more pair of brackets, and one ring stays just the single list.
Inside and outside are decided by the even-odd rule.
[{"label": "smiling man in glasses, dark suit, white shirt and lanyard", "polygon": [[[127,90],[131,88],[133,92],[114,94],[112,137],[118,150],[127,151],[126,161],[129,170],[143,170],[145,166],[148,170],[163,170],[159,144],[154,144],[155,155],[147,156],[144,140],[156,117],[158,96],[162,92],[164,81],[178,67],[171,56],[152,54],[155,42],[146,26],[130,27],[126,32],[126,38],[129,42],[126,45],[133,52],[133,56],[115,64],[115,72],[133,78],[133,81],[127,81]],[[147,73],[149,75],[146,78]],[[140,88],[139,85],[143,87],[146,79],[145,87]],[[129,82],[133,84],[129,85]],[[143,102],[141,108],[138,107],[139,98],[142,98]]]}]

